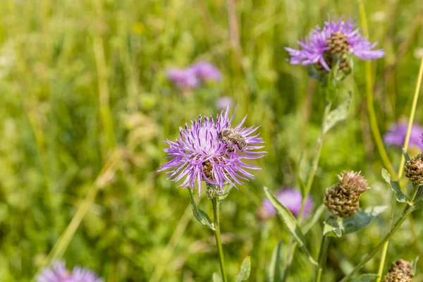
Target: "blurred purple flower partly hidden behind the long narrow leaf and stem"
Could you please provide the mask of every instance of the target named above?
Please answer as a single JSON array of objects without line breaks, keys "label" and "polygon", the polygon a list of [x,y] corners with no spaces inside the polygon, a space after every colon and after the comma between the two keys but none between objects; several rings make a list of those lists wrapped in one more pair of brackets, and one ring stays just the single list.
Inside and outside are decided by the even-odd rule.
[{"label": "blurred purple flower partly hidden behind the long narrow leaf and stem", "polygon": [[[301,192],[293,189],[293,188],[287,188],[285,190],[280,190],[276,192],[276,199],[278,199],[283,206],[285,206],[287,209],[290,210],[290,212],[293,213],[293,215],[298,216],[300,214],[301,209],[301,202],[302,202],[302,196]],[[309,212],[312,210],[313,207],[313,201],[311,197],[307,197],[307,200],[305,200],[305,206],[304,206],[304,216],[307,216]],[[261,219],[267,219],[269,216],[272,216],[276,214],[276,209],[271,204],[269,199],[265,199],[262,202],[262,207],[259,211],[259,217]]]}]

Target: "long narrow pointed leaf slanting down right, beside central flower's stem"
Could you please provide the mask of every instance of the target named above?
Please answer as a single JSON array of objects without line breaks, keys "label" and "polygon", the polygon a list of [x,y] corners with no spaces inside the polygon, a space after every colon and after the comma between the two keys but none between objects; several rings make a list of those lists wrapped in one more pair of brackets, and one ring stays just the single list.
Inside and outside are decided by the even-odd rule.
[{"label": "long narrow pointed leaf slanting down right, beside central flower's stem", "polygon": [[317,265],[316,260],[310,255],[309,250],[307,250],[307,247],[305,247],[303,243],[304,235],[302,234],[300,228],[298,227],[297,219],[295,219],[295,216],[291,214],[289,209],[283,206],[276,197],[273,195],[273,193],[269,190],[269,188],[264,187],[264,192],[266,193],[266,196],[269,198],[271,204],[274,206],[276,211],[278,212],[279,216],[281,216],[283,222],[285,222],[286,227],[288,227],[288,230],[293,235],[293,238],[295,242],[297,242],[298,246],[302,248],[307,253],[307,256],[309,258],[309,261],[312,262],[312,264]]}]

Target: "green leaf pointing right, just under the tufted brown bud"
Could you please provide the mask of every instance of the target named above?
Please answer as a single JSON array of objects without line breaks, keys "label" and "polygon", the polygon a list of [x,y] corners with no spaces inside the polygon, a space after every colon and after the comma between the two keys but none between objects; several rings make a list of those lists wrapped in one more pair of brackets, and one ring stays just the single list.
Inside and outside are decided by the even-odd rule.
[{"label": "green leaf pointing right, just under the tufted brown bud", "polygon": [[354,216],[343,219],[343,233],[353,233],[368,226],[386,208],[386,206],[376,206],[358,210]]}]

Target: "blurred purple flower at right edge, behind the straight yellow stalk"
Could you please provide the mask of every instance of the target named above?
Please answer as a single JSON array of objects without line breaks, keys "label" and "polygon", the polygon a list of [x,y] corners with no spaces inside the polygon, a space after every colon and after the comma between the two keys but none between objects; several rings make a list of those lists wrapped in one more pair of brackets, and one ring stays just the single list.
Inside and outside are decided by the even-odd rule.
[{"label": "blurred purple flower at right edge, behind the straight yellow stalk", "polygon": [[[405,136],[407,135],[407,123],[397,123],[389,129],[389,131],[384,135],[384,142],[388,145],[403,146],[405,141]],[[422,144],[422,133],[423,128],[419,125],[412,125],[410,142],[409,146],[415,146],[423,150]]]}]

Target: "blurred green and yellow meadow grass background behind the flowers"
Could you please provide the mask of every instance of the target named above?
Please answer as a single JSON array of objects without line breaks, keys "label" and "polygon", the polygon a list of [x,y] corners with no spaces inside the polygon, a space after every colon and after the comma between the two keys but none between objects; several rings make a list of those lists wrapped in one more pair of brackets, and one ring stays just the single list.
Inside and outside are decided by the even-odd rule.
[{"label": "blurred green and yellow meadow grass background behind the flowers", "polygon": [[[410,112],[423,56],[423,3],[364,6],[369,39],[386,51],[372,63],[384,133]],[[179,126],[199,114],[216,115],[214,103],[224,95],[238,104],[235,121],[248,114],[247,125],[260,125],[268,152],[252,163],[262,167],[257,179],[221,205],[228,274],[251,255],[250,281],[265,281],[274,246],[283,240],[285,252],[289,236],[276,216],[257,219],[263,186],[295,186],[296,173],[307,174],[323,111],[317,82],[306,68],[290,66],[283,48],[296,48],[328,15],[360,25],[357,2],[2,0],[0,13],[0,281],[30,281],[81,205],[87,214],[58,251],[68,266],[87,266],[105,281],[211,281],[219,272],[213,234],[192,219],[188,191],[156,171],[164,163],[161,141],[176,139]],[[214,63],[223,80],[183,95],[166,68],[199,60]],[[336,101],[353,90],[347,121],[326,137],[314,207],[343,169],[369,180],[362,206],[390,202],[369,130],[363,70],[355,60]],[[387,149],[398,167],[400,148]],[[212,214],[205,192],[196,200]],[[422,217],[414,214],[414,237],[408,221],[394,236],[386,265],[419,255]],[[333,240],[323,281],[360,262],[387,222],[385,212],[364,231]],[[315,257],[320,226],[309,235]],[[363,271],[376,272],[378,264],[379,256]],[[290,281],[310,281],[313,271],[296,255]]]}]

